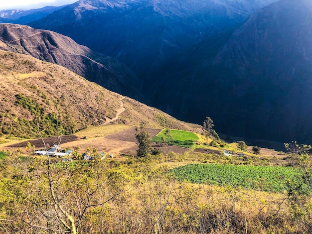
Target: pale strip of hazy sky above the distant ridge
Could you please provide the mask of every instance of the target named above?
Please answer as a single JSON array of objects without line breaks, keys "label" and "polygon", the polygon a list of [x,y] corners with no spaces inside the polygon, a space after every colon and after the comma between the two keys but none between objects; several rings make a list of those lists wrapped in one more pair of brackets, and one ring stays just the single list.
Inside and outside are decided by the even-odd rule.
[{"label": "pale strip of hazy sky above the distant ridge", "polygon": [[35,9],[46,5],[66,5],[78,0],[0,0],[0,10]]}]

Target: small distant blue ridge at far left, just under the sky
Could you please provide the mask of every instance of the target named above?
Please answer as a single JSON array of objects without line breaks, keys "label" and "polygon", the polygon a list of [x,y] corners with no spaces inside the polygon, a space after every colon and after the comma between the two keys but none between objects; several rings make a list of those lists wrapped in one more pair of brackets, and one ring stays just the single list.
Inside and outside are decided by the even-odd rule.
[{"label": "small distant blue ridge at far left, just under the sky", "polygon": [[17,23],[26,24],[34,20],[46,17],[47,15],[59,10],[67,5],[62,6],[45,6],[39,9],[20,10],[0,10],[0,23]]}]

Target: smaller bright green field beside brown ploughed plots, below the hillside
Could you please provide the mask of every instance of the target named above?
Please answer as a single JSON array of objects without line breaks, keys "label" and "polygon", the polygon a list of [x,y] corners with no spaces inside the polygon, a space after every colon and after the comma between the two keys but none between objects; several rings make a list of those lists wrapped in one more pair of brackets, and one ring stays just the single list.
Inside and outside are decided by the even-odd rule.
[{"label": "smaller bright green field beside brown ploughed plots, below the hillside", "polygon": [[191,148],[194,145],[194,142],[199,138],[198,136],[189,131],[180,131],[180,130],[162,130],[159,132],[153,139],[153,142],[162,142],[162,137],[164,137],[164,142],[167,144],[182,146],[185,148]]}]

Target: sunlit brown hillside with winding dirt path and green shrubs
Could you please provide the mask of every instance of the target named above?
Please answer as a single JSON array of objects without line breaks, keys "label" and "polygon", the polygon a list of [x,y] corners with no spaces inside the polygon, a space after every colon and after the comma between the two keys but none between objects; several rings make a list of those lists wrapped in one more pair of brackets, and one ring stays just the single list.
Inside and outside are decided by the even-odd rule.
[{"label": "sunlit brown hillside with winding dirt path and green shrubs", "polygon": [[[154,108],[122,97],[28,55],[0,51],[0,134],[38,137],[115,122],[191,130]],[[122,112],[120,111],[122,108]]]}]

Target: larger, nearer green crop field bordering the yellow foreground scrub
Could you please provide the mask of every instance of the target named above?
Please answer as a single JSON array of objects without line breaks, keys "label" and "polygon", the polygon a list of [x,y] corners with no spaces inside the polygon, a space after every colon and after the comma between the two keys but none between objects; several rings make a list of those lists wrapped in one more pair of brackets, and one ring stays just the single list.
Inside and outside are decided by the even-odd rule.
[{"label": "larger, nearer green crop field bordering the yellow foreground scrub", "polygon": [[178,180],[191,183],[240,186],[272,192],[286,190],[287,181],[298,181],[301,175],[301,171],[292,167],[225,164],[190,164],[169,172]]}]

